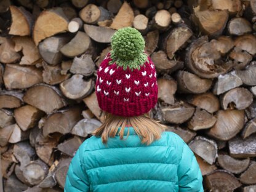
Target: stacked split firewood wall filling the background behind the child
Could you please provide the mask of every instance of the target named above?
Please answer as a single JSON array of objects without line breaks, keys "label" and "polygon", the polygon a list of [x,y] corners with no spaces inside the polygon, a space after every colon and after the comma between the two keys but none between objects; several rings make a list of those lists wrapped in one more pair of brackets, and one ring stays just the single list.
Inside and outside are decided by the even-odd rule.
[{"label": "stacked split firewood wall filling the background behind the child", "polygon": [[256,1],[0,1],[4,190],[63,191],[100,126],[97,68],[133,26],[158,71],[151,116],[196,154],[206,191],[256,191]]}]

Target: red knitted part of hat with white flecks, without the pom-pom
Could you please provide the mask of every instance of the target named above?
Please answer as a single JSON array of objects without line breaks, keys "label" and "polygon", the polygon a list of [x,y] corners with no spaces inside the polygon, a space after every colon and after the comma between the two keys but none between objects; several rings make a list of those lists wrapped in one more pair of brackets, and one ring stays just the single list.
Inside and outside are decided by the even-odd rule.
[{"label": "red knitted part of hat with white flecks, without the pom-pom", "polygon": [[148,61],[133,71],[116,63],[109,65],[110,53],[97,70],[95,92],[103,111],[117,116],[140,116],[154,108],[158,100],[158,84],[154,63]]}]

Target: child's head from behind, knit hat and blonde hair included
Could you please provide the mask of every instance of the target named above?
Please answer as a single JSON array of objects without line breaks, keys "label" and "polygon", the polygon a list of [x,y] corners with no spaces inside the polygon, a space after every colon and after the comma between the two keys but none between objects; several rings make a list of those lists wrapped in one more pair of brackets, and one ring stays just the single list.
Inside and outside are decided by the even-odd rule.
[{"label": "child's head from behind, knit hat and blonde hair included", "polygon": [[144,52],[145,41],[134,28],[122,28],[112,36],[111,48],[97,71],[95,91],[106,119],[95,135],[107,132],[102,135],[106,142],[116,128],[121,126],[123,132],[130,125],[151,143],[160,137],[162,128],[146,115],[158,101],[158,83],[154,63]]}]

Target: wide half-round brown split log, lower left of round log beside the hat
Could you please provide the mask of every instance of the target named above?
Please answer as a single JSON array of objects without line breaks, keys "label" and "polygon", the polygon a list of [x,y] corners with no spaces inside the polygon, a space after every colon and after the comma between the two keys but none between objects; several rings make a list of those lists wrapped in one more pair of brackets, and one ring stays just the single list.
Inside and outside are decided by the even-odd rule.
[{"label": "wide half-round brown split log, lower left of round log beside the hat", "polygon": [[65,100],[60,94],[60,90],[44,84],[39,84],[28,89],[24,94],[23,100],[47,114],[66,105]]}]

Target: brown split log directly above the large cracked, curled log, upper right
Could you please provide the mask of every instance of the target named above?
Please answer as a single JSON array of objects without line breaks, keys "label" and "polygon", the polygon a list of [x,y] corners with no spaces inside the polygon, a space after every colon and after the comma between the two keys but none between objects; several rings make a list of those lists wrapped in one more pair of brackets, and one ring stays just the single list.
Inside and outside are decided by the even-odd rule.
[{"label": "brown split log directly above the large cracked, curled log, upper right", "polygon": [[193,20],[204,34],[217,37],[222,34],[226,23],[228,22],[227,10],[200,10],[200,7],[194,7]]}]

